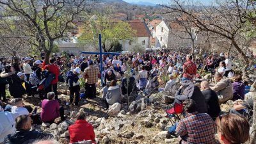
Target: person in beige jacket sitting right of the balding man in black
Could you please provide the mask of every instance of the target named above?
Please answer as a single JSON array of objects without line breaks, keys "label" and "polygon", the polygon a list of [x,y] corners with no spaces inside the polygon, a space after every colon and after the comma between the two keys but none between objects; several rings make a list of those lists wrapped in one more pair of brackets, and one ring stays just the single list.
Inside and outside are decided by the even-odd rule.
[{"label": "person in beige jacket sitting right of the balding man in black", "polygon": [[233,88],[230,79],[216,72],[214,79],[217,82],[210,88],[217,93],[220,103],[225,103],[233,98]]}]

